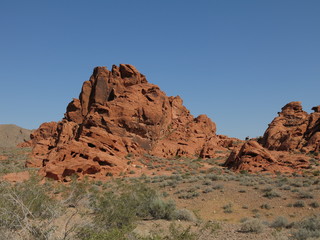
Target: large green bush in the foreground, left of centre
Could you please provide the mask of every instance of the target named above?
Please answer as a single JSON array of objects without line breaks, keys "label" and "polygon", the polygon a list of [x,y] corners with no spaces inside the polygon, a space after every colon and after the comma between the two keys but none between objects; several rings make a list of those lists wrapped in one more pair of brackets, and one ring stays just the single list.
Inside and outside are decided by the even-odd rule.
[{"label": "large green bush in the foreground, left of centre", "polygon": [[130,226],[138,218],[172,219],[176,210],[173,201],[163,200],[154,189],[134,183],[117,186],[117,192],[107,191],[92,199],[94,222],[103,228]]}]

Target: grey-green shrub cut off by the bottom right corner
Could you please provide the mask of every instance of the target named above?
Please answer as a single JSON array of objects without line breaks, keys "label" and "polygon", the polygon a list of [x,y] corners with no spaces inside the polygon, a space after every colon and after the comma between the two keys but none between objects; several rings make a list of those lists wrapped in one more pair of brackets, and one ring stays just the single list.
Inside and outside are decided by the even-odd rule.
[{"label": "grey-green shrub cut off by the bottom right corner", "polygon": [[294,239],[306,240],[320,238],[320,215],[309,217],[296,224],[297,230],[292,233]]}]

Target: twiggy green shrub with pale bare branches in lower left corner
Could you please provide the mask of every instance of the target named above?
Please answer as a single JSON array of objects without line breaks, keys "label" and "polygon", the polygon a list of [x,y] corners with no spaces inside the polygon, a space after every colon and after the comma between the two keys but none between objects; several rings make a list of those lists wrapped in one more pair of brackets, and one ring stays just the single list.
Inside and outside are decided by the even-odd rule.
[{"label": "twiggy green shrub with pale bare branches in lower left corner", "polygon": [[59,209],[57,201],[50,198],[50,185],[40,185],[38,180],[32,176],[15,185],[0,183],[2,230],[24,231],[35,239],[46,239],[51,231],[47,223],[59,214]]}]

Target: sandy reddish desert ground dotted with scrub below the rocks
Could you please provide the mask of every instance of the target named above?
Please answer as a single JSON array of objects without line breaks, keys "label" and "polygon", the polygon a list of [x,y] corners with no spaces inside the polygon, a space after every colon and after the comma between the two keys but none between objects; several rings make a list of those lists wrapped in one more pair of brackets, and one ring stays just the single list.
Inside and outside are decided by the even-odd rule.
[{"label": "sandy reddish desert ground dotted with scrub below the rocks", "polygon": [[274,175],[234,173],[223,157],[128,156],[123,176],[64,183],[26,168],[30,152],[0,151],[3,239],[320,237],[317,162],[302,174]]}]

